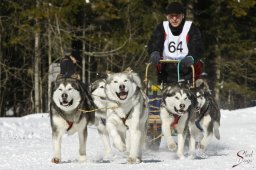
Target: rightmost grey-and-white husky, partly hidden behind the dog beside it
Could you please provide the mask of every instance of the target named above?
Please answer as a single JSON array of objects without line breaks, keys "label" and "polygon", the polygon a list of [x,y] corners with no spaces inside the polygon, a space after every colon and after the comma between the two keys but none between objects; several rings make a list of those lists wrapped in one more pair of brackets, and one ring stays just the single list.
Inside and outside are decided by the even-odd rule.
[{"label": "rightmost grey-and-white husky, partly hidden behind the dog beside it", "polygon": [[197,110],[192,113],[189,120],[191,158],[195,156],[196,142],[198,142],[199,151],[203,153],[213,134],[216,139],[220,139],[220,109],[208,84],[198,79],[194,93],[197,98]]}]

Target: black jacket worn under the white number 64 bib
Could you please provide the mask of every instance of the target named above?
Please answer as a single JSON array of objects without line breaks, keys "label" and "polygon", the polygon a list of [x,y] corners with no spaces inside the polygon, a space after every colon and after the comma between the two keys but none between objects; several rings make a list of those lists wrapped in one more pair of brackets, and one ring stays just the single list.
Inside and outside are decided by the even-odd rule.
[{"label": "black jacket worn under the white number 64 bib", "polygon": [[[182,32],[185,20],[178,28],[173,28],[171,24],[169,27],[174,35],[179,35]],[[165,31],[163,22],[161,22],[154,30],[149,42],[148,53],[158,51],[162,56],[165,41]],[[203,55],[203,40],[200,30],[192,23],[187,35],[188,55],[192,56],[195,63],[202,58]],[[177,80],[177,65],[176,64],[161,64],[158,70],[158,82],[172,83]],[[190,68],[180,68],[180,75],[182,79],[190,79],[192,77]]]}]

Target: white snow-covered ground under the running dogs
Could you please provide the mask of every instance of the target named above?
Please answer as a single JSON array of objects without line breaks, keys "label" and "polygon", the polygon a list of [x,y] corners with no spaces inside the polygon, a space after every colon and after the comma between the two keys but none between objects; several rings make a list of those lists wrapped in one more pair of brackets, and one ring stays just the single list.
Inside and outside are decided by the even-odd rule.
[{"label": "white snow-covered ground under the running dogs", "polygon": [[[256,169],[256,107],[221,110],[221,114],[221,139],[210,141],[206,151],[208,158],[179,160],[162,140],[159,151],[145,150],[143,162],[135,165],[126,164],[127,155],[115,149],[113,161],[102,162],[103,144],[94,126],[88,131],[86,163],[78,161],[78,137],[74,134],[63,137],[62,162],[53,164],[49,114],[0,118],[0,170]],[[232,168],[233,165],[237,166]]]}]

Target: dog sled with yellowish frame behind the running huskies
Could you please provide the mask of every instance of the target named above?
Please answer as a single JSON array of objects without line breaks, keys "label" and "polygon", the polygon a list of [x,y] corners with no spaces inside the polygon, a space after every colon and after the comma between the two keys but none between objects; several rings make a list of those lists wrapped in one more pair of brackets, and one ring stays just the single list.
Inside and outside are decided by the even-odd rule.
[{"label": "dog sled with yellowish frame behind the running huskies", "polygon": [[[170,63],[177,64],[178,60],[160,60],[160,63]],[[161,143],[162,137],[162,122],[160,119],[160,105],[162,100],[163,87],[161,85],[149,85],[147,79],[148,70],[151,63],[148,63],[146,66],[145,80],[146,83],[146,95],[149,98],[149,118],[148,118],[148,127],[147,127],[147,138],[148,138],[148,147],[152,150],[157,150]],[[192,69],[192,88],[195,87],[195,68],[194,65],[191,66]],[[179,73],[179,70],[177,69]],[[179,75],[179,74],[178,74]],[[180,82],[180,77],[178,76],[178,82]],[[172,135],[175,136],[176,133],[172,130]]]}]

